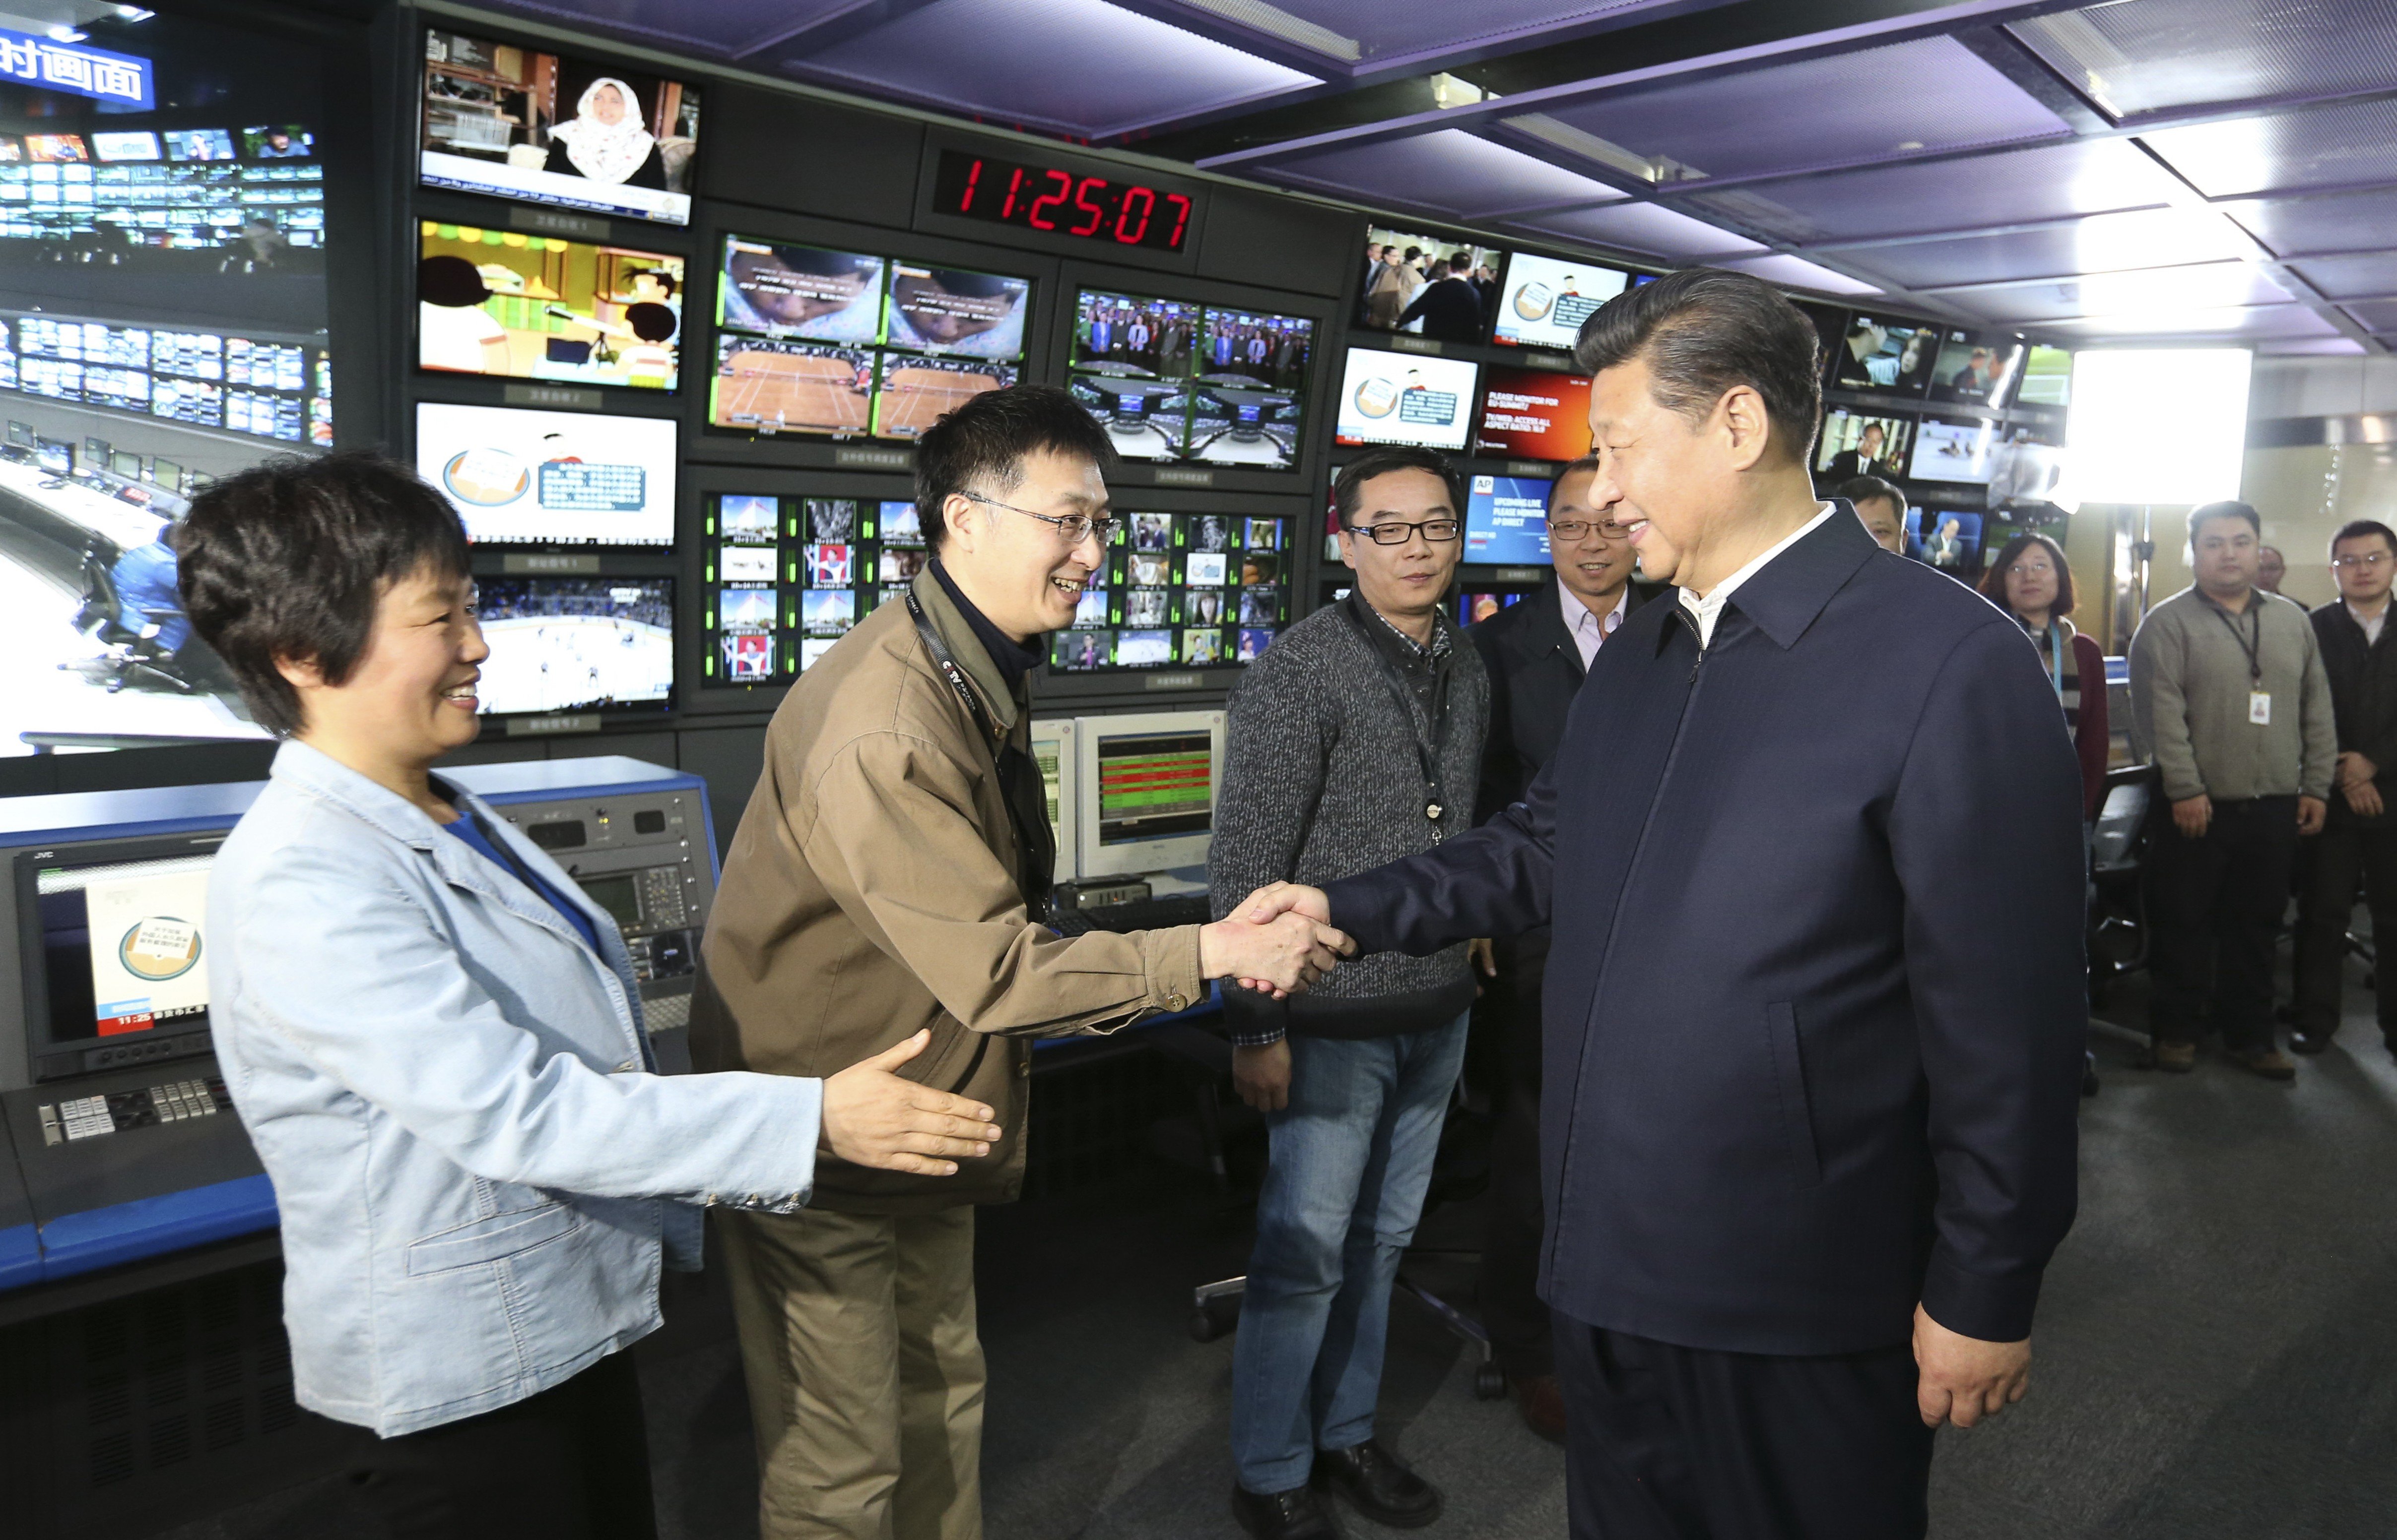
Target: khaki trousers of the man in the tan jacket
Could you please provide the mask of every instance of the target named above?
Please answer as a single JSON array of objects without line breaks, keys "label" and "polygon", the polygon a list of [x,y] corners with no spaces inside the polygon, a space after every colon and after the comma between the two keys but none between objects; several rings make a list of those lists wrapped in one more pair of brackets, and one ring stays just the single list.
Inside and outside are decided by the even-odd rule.
[{"label": "khaki trousers of the man in the tan jacket", "polygon": [[980,1540],[973,1209],[719,1212],[762,1540]]}]

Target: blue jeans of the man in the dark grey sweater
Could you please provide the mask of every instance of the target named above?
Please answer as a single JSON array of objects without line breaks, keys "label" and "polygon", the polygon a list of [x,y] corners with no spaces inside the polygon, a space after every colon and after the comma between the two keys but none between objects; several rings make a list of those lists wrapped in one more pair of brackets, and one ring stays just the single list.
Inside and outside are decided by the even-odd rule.
[{"label": "blue jeans of the man in the dark grey sweater", "polygon": [[1316,1449],[1373,1437],[1390,1281],[1424,1212],[1465,1023],[1290,1039],[1232,1348],[1232,1466],[1251,1492],[1304,1487]]}]

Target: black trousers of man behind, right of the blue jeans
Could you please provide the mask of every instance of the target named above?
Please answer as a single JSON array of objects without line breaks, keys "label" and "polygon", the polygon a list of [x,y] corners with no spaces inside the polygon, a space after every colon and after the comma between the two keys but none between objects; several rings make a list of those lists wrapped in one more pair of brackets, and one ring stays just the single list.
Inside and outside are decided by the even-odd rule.
[{"label": "black trousers of man behind, right of the blue jeans", "polygon": [[1484,1001],[1498,1018],[1498,1121],[1474,1298],[1510,1380],[1556,1372],[1556,1336],[1539,1298],[1539,980],[1546,951],[1539,946],[1529,958],[1520,946],[1513,956],[1501,951],[1501,972]]}]

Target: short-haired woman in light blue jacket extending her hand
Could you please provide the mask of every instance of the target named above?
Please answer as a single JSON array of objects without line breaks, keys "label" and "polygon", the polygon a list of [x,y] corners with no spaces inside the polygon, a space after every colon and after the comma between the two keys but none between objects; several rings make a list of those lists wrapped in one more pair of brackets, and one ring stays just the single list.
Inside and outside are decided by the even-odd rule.
[{"label": "short-haired woman in light blue jacket extending her hand", "polygon": [[180,589],[273,778],[209,881],[216,1051],[276,1183],[302,1406],[398,1535],[652,1535],[623,1348],[700,1209],[789,1212],[820,1147],[947,1174],[990,1109],[904,1080],[659,1078],[606,910],[431,774],[475,740],[467,541],[367,455],[201,493]]}]

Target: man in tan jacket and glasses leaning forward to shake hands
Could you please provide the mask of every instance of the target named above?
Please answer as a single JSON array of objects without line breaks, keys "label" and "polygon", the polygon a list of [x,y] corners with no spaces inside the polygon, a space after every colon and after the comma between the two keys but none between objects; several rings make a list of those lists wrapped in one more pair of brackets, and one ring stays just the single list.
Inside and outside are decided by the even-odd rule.
[{"label": "man in tan jacket and glasses leaning forward to shake hands", "polygon": [[1024,1186],[1031,1039],[1112,1032],[1210,977],[1302,989],[1347,946],[1292,924],[1059,939],[1028,752],[1040,632],[1071,623],[1112,529],[1107,433],[1055,386],[976,395],[916,445],[932,563],[841,637],[767,728],[690,1013],[700,1068],[901,1073],[1004,1130],[954,1176],[822,1157],[810,1207],[726,1219],[767,1540],[978,1540],[983,1348],[973,1207]]}]

